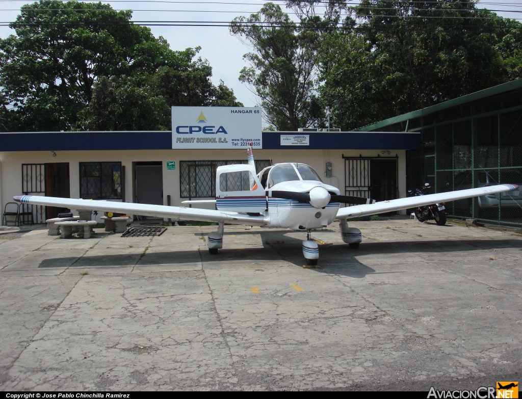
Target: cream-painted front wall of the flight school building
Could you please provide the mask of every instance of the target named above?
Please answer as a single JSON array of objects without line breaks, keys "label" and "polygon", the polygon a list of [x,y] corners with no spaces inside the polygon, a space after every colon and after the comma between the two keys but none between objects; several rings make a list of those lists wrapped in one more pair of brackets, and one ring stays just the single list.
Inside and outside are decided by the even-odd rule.
[{"label": "cream-painted front wall of the flight school building", "polygon": [[[406,196],[406,151],[392,151],[398,154],[399,196]],[[254,150],[257,160],[271,159],[272,163],[302,162],[312,166],[325,183],[338,187],[344,194],[345,160],[342,155],[375,157],[382,155],[378,150]],[[181,206],[180,199],[180,161],[219,161],[246,160],[246,150],[136,150],[136,151],[20,151],[0,152],[0,202],[2,212],[4,204],[13,200],[13,196],[22,194],[22,163],[68,162],[70,175],[70,197],[79,198],[79,163],[80,162],[122,162],[125,166],[125,199],[133,201],[132,162],[162,161],[163,163],[163,201],[167,205],[167,196],[171,196],[171,205]],[[167,170],[167,161],[176,162],[176,170]],[[333,176],[324,177],[325,162],[331,162]],[[194,198],[196,199],[196,198]]]}]

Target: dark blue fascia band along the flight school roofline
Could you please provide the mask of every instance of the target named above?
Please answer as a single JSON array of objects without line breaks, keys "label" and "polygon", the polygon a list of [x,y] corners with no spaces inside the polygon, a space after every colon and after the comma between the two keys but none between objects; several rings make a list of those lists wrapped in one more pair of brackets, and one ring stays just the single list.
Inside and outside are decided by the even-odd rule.
[{"label": "dark blue fascia band along the flight school roofline", "polygon": [[[310,145],[281,146],[281,135],[310,136]],[[263,132],[263,149],[268,150],[417,150],[419,148],[420,134],[417,132]],[[172,149],[170,130],[0,133],[0,151],[170,149]]]}]

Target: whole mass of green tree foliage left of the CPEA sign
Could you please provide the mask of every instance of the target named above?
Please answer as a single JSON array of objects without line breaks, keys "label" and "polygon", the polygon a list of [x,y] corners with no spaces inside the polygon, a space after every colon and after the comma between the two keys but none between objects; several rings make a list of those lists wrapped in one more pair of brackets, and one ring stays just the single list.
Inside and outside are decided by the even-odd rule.
[{"label": "whole mass of green tree foliage left of the CPEA sign", "polygon": [[0,40],[0,129],[165,129],[171,105],[241,105],[199,49],[173,51],[132,12],[41,0]]}]

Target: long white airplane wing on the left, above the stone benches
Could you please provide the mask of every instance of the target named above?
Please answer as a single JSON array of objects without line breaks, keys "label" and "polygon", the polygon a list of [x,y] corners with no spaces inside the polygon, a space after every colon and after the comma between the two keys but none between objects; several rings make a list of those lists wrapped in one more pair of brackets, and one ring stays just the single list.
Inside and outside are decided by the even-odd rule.
[{"label": "long white airplane wing on the left, above the stone benches", "polygon": [[69,209],[91,209],[102,212],[119,212],[131,215],[170,217],[176,220],[197,220],[202,222],[233,223],[245,225],[265,224],[263,216],[250,216],[236,212],[223,212],[212,209],[168,207],[145,203],[95,201],[74,198],[57,198],[41,196],[15,196],[17,202]]}]

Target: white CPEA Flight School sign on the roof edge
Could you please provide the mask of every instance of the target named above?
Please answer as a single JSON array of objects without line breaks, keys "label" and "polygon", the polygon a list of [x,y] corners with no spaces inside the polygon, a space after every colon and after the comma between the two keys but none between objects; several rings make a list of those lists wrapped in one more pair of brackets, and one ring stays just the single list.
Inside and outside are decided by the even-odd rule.
[{"label": "white CPEA Flight School sign on the roof edge", "polygon": [[261,108],[172,107],[173,149],[263,148]]}]

